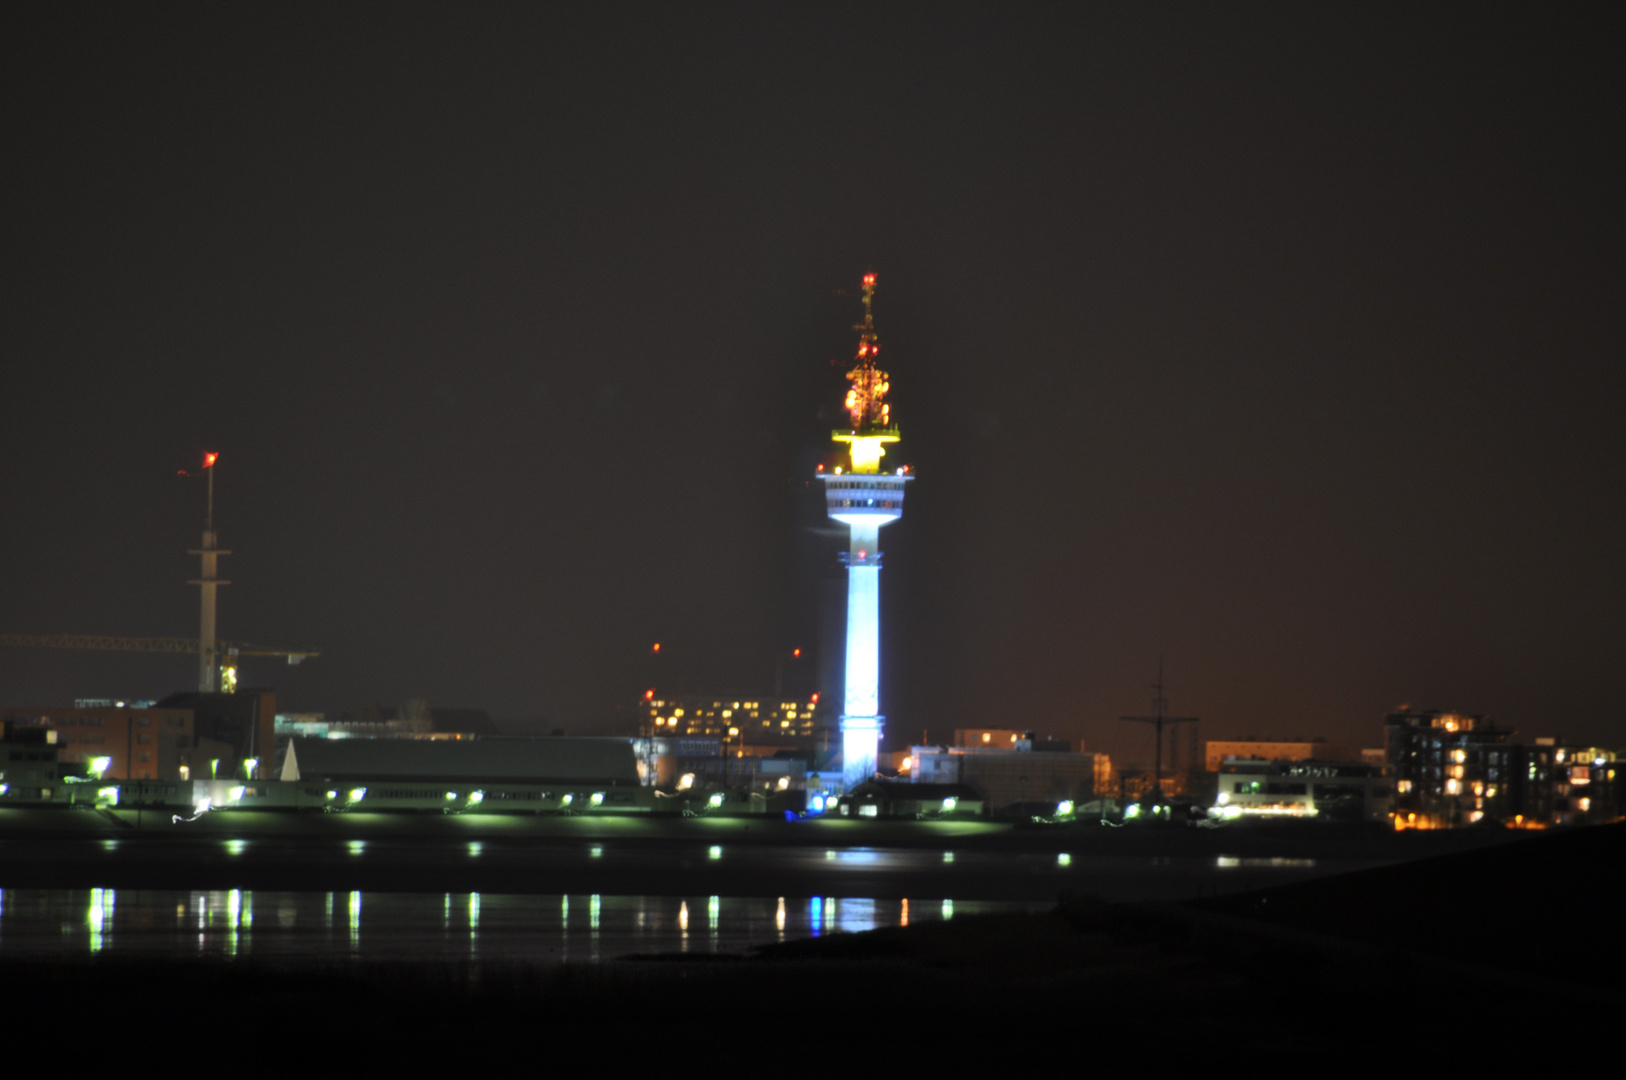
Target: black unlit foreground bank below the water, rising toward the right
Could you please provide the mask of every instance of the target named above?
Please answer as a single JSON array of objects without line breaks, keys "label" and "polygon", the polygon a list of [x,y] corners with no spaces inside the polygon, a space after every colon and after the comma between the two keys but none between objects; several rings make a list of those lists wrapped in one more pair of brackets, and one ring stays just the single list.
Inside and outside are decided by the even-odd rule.
[{"label": "black unlit foreground bank below the water, rising toward the right", "polygon": [[1613,1031],[1626,1007],[1623,856],[1626,826],[1613,825],[1218,899],[1075,896],[1044,914],[704,963],[0,963],[0,1010],[13,1031],[80,1046],[89,1013],[111,1047],[184,1030],[189,1052],[255,1073],[485,1070],[515,1054],[567,1056],[572,1072],[795,1075],[924,1054],[958,1072],[967,1051],[998,1052],[1020,1075],[1125,1054],[1146,1067],[1268,1054],[1468,1069],[1564,1031]]}]

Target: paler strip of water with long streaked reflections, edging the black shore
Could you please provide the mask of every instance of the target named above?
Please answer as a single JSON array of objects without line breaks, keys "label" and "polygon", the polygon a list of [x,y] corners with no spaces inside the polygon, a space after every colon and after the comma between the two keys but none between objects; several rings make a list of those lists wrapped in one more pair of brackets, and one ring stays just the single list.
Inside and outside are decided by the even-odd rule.
[{"label": "paler strip of water with long streaked reflections, edging the black shore", "polygon": [[[571,921],[571,901],[579,904]],[[633,953],[743,952],[831,932],[1046,904],[494,893],[273,893],[249,890],[0,890],[0,956],[205,955],[278,963],[476,960],[563,963]],[[254,909],[275,919],[254,922]],[[337,908],[337,912],[335,912]],[[585,908],[587,917],[580,917]],[[171,919],[167,912],[174,912]],[[335,914],[338,916],[335,921]],[[694,934],[691,935],[691,930]]]}]

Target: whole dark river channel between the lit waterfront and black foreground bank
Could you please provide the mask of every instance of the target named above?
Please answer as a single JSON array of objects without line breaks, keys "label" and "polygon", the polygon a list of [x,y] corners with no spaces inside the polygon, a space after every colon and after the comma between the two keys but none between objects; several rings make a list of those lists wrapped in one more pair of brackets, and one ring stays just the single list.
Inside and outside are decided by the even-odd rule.
[{"label": "whole dark river channel between the lit waterfront and black foreground bank", "polygon": [[[7,839],[0,958],[600,961],[1044,909],[1189,899],[1361,859],[444,839]],[[189,888],[176,888],[176,885]]]}]

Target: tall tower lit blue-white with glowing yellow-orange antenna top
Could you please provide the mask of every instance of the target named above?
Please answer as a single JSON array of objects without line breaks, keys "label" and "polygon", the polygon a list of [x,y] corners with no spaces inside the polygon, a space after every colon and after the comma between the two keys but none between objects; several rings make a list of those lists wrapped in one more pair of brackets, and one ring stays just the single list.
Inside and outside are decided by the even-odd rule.
[{"label": "tall tower lit blue-white with glowing yellow-orange antenna top", "polygon": [[849,464],[821,472],[829,516],[847,527],[847,688],[841,712],[842,779],[847,790],[875,776],[881,740],[881,527],[902,517],[907,468],[881,470],[886,444],[898,441],[886,390],[891,384],[876,366],[880,343],[870,306],[875,275],[863,275],[863,322],[859,355],[847,381],[852,428],[836,431]]}]

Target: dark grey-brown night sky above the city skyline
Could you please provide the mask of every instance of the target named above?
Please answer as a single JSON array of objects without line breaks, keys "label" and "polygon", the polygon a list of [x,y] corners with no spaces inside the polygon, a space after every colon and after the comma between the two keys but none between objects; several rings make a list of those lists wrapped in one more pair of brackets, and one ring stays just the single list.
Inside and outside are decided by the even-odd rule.
[{"label": "dark grey-brown night sky above the city skyline", "polygon": [[[41,5],[0,629],[606,730],[820,642],[873,265],[893,730],[1626,742],[1623,26],[1585,5]],[[644,654],[662,641],[665,670]],[[792,670],[792,686],[811,686]],[[0,651],[0,699],[187,660]],[[800,680],[800,682],[798,682]]]}]

